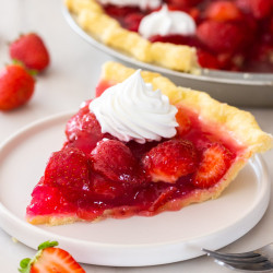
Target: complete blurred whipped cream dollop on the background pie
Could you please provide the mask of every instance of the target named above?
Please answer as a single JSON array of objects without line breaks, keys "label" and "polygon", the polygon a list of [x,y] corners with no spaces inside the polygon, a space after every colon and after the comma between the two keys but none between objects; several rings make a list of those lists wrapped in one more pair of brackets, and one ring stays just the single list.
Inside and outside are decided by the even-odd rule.
[{"label": "complete blurred whipped cream dollop on the background pie", "polygon": [[193,35],[197,25],[194,20],[186,12],[169,11],[164,4],[159,11],[144,16],[139,26],[139,33],[144,38],[154,35],[166,36],[169,34]]}]

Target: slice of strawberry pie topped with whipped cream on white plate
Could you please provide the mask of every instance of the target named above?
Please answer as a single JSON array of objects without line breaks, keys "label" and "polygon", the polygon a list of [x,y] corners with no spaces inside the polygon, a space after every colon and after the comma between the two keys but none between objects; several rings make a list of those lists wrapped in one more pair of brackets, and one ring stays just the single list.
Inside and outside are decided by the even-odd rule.
[{"label": "slice of strawberry pie topped with whipped cream on white plate", "polygon": [[33,190],[29,223],[177,211],[217,198],[248,158],[273,146],[249,112],[157,73],[108,62],[96,96],[68,121]]}]

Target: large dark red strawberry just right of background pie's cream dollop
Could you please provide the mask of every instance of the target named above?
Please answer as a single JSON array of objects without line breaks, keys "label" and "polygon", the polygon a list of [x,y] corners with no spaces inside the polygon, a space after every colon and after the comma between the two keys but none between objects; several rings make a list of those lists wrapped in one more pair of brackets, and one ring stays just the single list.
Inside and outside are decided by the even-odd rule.
[{"label": "large dark red strawberry just right of background pie's cream dollop", "polygon": [[245,45],[246,34],[232,22],[205,21],[198,26],[199,39],[216,52],[235,52]]}]

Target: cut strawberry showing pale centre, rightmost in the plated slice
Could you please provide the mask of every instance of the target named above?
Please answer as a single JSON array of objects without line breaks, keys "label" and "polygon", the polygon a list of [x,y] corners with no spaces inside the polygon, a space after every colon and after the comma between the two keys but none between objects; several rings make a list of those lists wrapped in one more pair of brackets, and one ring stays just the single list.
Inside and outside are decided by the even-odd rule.
[{"label": "cut strawberry showing pale centre, rightmost in the plated slice", "polygon": [[201,163],[193,177],[199,188],[214,186],[225,175],[232,164],[232,153],[219,143],[213,143],[202,155]]}]

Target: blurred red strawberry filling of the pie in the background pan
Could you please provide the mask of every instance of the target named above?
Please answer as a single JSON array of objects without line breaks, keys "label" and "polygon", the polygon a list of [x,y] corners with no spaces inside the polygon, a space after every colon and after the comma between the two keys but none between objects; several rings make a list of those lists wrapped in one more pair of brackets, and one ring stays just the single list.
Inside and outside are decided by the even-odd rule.
[{"label": "blurred red strawberry filling of the pie in the background pan", "polygon": [[[272,1],[164,0],[162,2],[169,11],[181,11],[190,15],[195,22],[197,29],[190,35],[153,35],[149,37],[152,43],[195,47],[202,68],[266,73],[273,71]],[[114,4],[103,7],[109,16],[132,32],[140,32],[142,20],[162,9],[144,10],[139,7]]]}]

